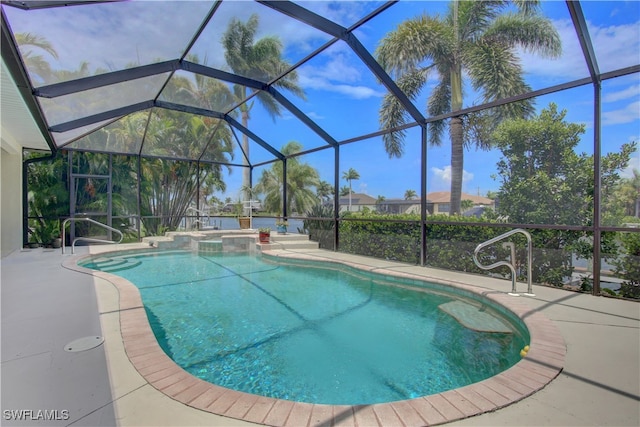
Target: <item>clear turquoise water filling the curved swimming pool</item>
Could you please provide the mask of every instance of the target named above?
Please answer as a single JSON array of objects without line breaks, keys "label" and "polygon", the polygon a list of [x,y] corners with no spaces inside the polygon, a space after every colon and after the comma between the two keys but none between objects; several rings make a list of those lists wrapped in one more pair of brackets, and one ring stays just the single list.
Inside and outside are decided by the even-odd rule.
[{"label": "clear turquoise water filling the curved swimming pool", "polygon": [[[169,357],[248,393],[350,405],[409,399],[496,375],[528,342],[514,319],[441,286],[248,255],[108,256],[82,265],[140,289]],[[454,300],[491,313],[503,330],[463,326],[439,308]]]}]

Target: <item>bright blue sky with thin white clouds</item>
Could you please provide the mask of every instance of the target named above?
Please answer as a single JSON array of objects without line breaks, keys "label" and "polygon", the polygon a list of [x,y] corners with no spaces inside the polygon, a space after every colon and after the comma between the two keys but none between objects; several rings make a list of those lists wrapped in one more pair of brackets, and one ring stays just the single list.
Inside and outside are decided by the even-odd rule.
[{"label": "bright blue sky with thin white clouds", "polygon": [[[142,1],[126,4],[110,4],[100,7],[59,8],[53,11],[23,13],[13,8],[8,11],[16,32],[33,32],[50,40],[59,54],[53,61],[59,68],[76,69],[81,61],[87,61],[92,69],[121,69],[128,63],[148,63],[157,59],[179,56],[197,28],[203,14],[212,2],[181,2],[180,19],[174,19],[176,3],[167,1]],[[365,1],[313,1],[300,2],[322,16],[350,26],[382,2]],[[582,8],[587,17],[590,36],[595,45],[601,71],[636,65],[640,61],[640,2],[638,1],[585,1]],[[382,15],[367,22],[355,35],[373,53],[384,35],[403,20],[422,13],[443,13],[447,2],[401,1]],[[588,72],[578,40],[564,1],[543,1],[543,13],[558,30],[563,55],[557,60],[541,59],[522,53],[525,79],[534,89],[587,77]],[[257,38],[277,36],[285,47],[285,57],[296,63],[317,49],[330,38],[313,28],[301,25],[260,4],[246,1],[225,1],[211,24],[205,29],[192,52],[206,58],[207,64],[226,67],[220,37],[228,19],[236,16],[247,19],[251,13],[260,14]],[[45,21],[45,14],[48,19]],[[91,33],[109,34],[100,42]],[[87,36],[89,34],[89,37]],[[102,36],[101,36],[102,37]],[[158,39],[163,43],[158,43]],[[77,43],[77,40],[82,40]],[[384,88],[373,78],[364,64],[349,47],[338,42],[320,56],[308,61],[298,70],[306,100],[291,98],[292,102],[319,126],[338,141],[375,132],[379,129],[378,110],[384,96]],[[437,81],[437,75],[423,90],[416,105],[424,112],[426,98]],[[625,142],[640,139],[640,76],[638,74],[603,83],[602,91],[602,150],[616,152]],[[480,102],[471,88],[466,88],[465,104]],[[540,97],[536,100],[538,111],[555,102],[568,111],[567,120],[584,123],[586,132],[577,148],[579,152],[593,152],[593,88],[584,86],[565,93]],[[252,110],[249,128],[276,148],[291,140],[302,143],[305,149],[325,144],[317,135],[301,124],[293,115],[284,111],[274,123],[264,109],[256,103]],[[420,189],[420,135],[417,129],[407,133],[405,154],[400,159],[389,159],[380,138],[347,144],[341,148],[340,175],[349,168],[356,169],[360,179],[354,181],[355,191],[386,198],[403,197],[406,190]],[[253,146],[254,163],[270,156],[263,149]],[[321,178],[333,184],[333,150],[309,154],[304,161],[315,166]],[[427,154],[428,191],[449,189],[450,154],[447,141],[441,147],[430,147]],[[465,152],[465,181],[463,191],[486,194],[497,190],[500,183],[491,178],[500,155],[495,151]],[[235,161],[239,162],[237,150]],[[640,156],[634,155],[631,167],[640,170]],[[254,182],[261,168],[256,168]],[[237,198],[241,171],[234,170],[225,180],[228,189],[218,197]],[[346,185],[346,181],[341,182]]]}]

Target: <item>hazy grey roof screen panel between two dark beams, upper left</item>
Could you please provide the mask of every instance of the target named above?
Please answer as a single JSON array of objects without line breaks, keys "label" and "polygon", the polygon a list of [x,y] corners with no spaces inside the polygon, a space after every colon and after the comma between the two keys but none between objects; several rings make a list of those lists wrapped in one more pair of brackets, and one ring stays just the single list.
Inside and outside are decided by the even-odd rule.
[{"label": "hazy grey roof screen panel between two dark beams, upper left", "polygon": [[55,98],[39,98],[51,126],[153,100],[169,73],[98,87]]}]

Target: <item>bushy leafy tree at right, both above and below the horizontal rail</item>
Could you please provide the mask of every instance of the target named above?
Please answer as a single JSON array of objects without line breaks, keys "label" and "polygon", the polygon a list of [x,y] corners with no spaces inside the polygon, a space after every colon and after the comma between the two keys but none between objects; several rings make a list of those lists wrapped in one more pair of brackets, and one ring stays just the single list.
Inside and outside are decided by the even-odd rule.
[{"label": "bushy leafy tree at right, both above and below the horizontal rail", "polygon": [[[530,120],[501,123],[494,143],[503,157],[497,164],[502,182],[496,215],[521,224],[590,226],[593,224],[593,156],[574,151],[585,131],[582,124],[565,122],[566,111],[555,104]],[[635,143],[622,144],[619,153],[602,157],[600,179],[604,194],[620,181]],[[561,286],[572,273],[574,254],[593,256],[593,237],[569,230],[536,230],[532,233],[533,279]],[[603,253],[616,254],[614,236],[602,236]]]}]

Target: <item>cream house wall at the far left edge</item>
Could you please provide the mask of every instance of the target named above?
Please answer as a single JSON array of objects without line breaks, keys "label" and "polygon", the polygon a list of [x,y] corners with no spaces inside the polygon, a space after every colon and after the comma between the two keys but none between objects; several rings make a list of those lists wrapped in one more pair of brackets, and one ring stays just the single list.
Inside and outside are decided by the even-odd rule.
[{"label": "cream house wall at the far left edge", "polygon": [[22,153],[6,144],[0,148],[0,246],[2,258],[22,248]]}]

